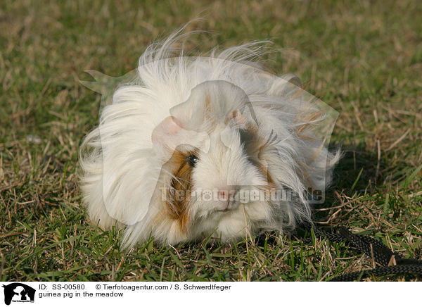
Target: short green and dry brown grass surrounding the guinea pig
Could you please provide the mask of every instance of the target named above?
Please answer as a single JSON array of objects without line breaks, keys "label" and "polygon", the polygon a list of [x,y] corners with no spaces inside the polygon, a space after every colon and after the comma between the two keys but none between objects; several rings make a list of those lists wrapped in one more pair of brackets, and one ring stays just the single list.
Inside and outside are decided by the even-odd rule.
[{"label": "short green and dry brown grass surrounding the guinea pig", "polygon": [[[370,258],[309,233],[221,244],[140,244],[89,225],[78,146],[101,97],[86,69],[123,75],[148,42],[202,16],[207,51],[273,39],[269,67],[293,72],[340,112],[332,144],[345,158],[316,208],[407,258],[422,257],[420,1],[38,1],[0,4],[0,280],[328,280]],[[311,244],[303,242],[312,238]],[[367,280],[416,280],[377,277]]]}]

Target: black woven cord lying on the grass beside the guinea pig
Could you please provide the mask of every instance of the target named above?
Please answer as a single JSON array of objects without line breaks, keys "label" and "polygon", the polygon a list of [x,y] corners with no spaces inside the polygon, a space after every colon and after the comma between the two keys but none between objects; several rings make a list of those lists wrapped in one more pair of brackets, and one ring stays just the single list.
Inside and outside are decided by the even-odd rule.
[{"label": "black woven cord lying on the grass beside the guinea pig", "polygon": [[341,227],[339,233],[333,234],[324,230],[312,228],[317,237],[325,237],[331,242],[347,242],[358,251],[362,251],[373,258],[378,268],[361,270],[349,274],[333,277],[330,282],[352,282],[365,277],[379,277],[385,275],[413,274],[422,277],[422,261],[400,258],[378,239],[363,234],[352,234],[346,227]]}]

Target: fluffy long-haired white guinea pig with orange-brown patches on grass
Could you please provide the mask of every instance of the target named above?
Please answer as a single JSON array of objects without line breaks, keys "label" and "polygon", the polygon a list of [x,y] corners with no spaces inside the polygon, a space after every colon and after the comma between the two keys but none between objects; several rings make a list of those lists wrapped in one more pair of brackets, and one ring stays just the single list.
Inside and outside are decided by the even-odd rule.
[{"label": "fluffy long-haired white guinea pig with orange-brown patches on grass", "polygon": [[125,229],[125,246],[286,233],[311,222],[339,151],[327,143],[337,113],[256,62],[259,43],[174,56],[172,35],[113,89],[82,143],[89,218]]}]

